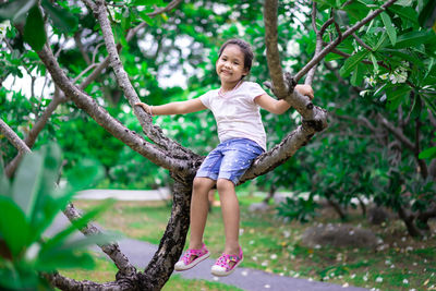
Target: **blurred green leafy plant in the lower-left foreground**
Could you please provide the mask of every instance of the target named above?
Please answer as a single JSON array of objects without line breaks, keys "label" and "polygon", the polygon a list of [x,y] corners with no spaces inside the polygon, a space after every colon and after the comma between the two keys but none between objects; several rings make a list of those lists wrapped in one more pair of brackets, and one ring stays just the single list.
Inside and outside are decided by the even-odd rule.
[{"label": "blurred green leafy plant in the lower-left foreground", "polygon": [[59,187],[61,151],[57,145],[26,155],[10,181],[0,167],[0,286],[12,290],[50,289],[41,272],[58,268],[93,268],[85,251],[95,243],[107,243],[111,237],[72,237],[96,215],[111,206],[108,201],[88,211],[73,225],[45,238],[44,232],[65,208],[74,193],[89,186],[101,177],[101,169],[83,160],[70,172],[69,182]]}]

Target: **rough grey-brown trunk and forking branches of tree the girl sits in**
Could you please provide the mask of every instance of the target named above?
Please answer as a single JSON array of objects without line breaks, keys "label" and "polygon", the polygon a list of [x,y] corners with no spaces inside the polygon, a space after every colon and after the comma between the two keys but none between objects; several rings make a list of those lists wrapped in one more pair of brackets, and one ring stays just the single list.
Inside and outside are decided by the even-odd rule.
[{"label": "rough grey-brown trunk and forking branches of tree the girl sits in", "polygon": [[[348,29],[343,34],[343,38],[354,33],[362,25],[370,22],[378,15],[384,9],[392,4],[396,0],[387,1],[383,9],[371,13],[363,21]],[[118,120],[113,119],[104,108],[81,88],[77,88],[66,77],[64,72],[59,66],[50,48],[45,46],[38,52],[39,58],[50,72],[53,82],[62,89],[68,98],[89,114],[99,125],[105,128],[114,137],[130,146],[133,150],[143,155],[157,166],[164,167],[171,171],[172,178],[175,181],[173,206],[171,218],[168,222],[167,230],[162,237],[159,248],[149,265],[145,268],[144,274],[137,272],[132,267],[125,257],[120,254],[117,246],[108,246],[107,252],[110,256],[116,257],[116,264],[120,268],[123,276],[117,276],[117,282],[97,284],[89,281],[77,282],[55,274],[50,276],[51,282],[63,290],[160,290],[172,274],[173,265],[179,258],[187,233],[189,228],[189,208],[192,178],[198,168],[202,157],[195,155],[191,150],[182,147],[174,141],[164,136],[158,126],[152,124],[152,119],[144,110],[135,108],[134,104],[140,99],[135,89],[129,81],[129,77],[123,69],[118,54],[117,46],[113,41],[113,35],[109,21],[107,19],[105,1],[102,0],[83,0],[94,12],[98,19],[101,32],[104,34],[105,44],[109,53],[108,61],[116,73],[119,86],[124,92],[130,105],[132,106],[135,116],[137,117],[145,134],[155,143],[150,144],[136,133],[123,126]],[[172,1],[172,4],[178,4],[181,1]],[[331,49],[334,49],[341,40],[338,37],[323,50],[318,50],[314,59],[307,64],[294,80],[283,78],[281,71],[279,53],[277,48],[277,0],[266,0],[265,2],[265,25],[266,25],[266,46],[268,68],[270,70],[271,80],[275,86],[275,94],[279,98],[284,98],[294,107],[303,117],[302,125],[291,132],[269,151],[259,156],[251,169],[242,178],[242,182],[253,179],[259,174],[264,174],[277,166],[283,163],[291,157],[301,146],[304,146],[311,137],[318,131],[327,126],[326,111],[313,106],[312,101],[296,92],[293,93],[294,81],[305,75],[307,71],[316,65]],[[327,25],[327,24],[326,24]],[[327,27],[327,26],[325,26]],[[337,26],[336,26],[337,27]],[[340,31],[338,34],[340,35]],[[348,34],[348,35],[347,35]],[[105,68],[101,64],[100,68]],[[101,69],[101,70],[102,70]],[[86,83],[86,82],[84,82]],[[65,211],[74,213],[72,209]],[[88,227],[84,232],[98,231]]]}]

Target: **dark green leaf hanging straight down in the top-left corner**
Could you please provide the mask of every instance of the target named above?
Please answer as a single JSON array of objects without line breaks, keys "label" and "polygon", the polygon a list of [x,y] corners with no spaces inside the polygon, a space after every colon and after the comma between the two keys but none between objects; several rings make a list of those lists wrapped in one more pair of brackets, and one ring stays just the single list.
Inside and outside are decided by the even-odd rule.
[{"label": "dark green leaf hanging straight down in the top-left corner", "polygon": [[43,14],[37,5],[33,7],[28,12],[26,24],[24,25],[24,40],[35,51],[41,50],[44,44],[46,44],[46,28],[44,27]]}]

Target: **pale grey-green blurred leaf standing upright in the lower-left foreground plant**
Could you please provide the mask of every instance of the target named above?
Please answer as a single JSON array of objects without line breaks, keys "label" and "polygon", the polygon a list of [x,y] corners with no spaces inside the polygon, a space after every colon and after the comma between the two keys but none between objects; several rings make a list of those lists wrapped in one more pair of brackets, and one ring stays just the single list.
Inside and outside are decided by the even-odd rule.
[{"label": "pale grey-green blurred leaf standing upright in the lower-left foreground plant", "polygon": [[38,153],[25,155],[12,185],[12,197],[28,219],[38,199],[43,165],[43,157]]}]

